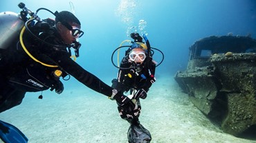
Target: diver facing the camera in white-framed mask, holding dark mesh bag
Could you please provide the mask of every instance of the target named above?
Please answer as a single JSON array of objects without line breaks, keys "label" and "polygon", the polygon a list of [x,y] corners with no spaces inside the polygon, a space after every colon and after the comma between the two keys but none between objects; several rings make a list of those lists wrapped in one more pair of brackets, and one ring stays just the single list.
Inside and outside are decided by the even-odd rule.
[{"label": "diver facing the camera in white-framed mask, holding dark mesh bag", "polygon": [[[131,38],[134,41],[128,46],[125,57],[122,58],[120,67],[118,67],[118,77],[112,80],[112,87],[122,93],[129,91],[130,95],[128,97],[136,105],[134,108],[127,109],[118,106],[121,118],[130,123],[127,133],[129,143],[149,143],[152,140],[151,134],[140,124],[138,118],[141,109],[140,98],[147,98],[147,91],[156,81],[154,77],[156,62],[152,60],[152,50],[145,35],[143,35],[143,38],[146,44],[143,43],[143,38],[136,32],[131,33]],[[127,46],[118,48],[121,47]]]}]

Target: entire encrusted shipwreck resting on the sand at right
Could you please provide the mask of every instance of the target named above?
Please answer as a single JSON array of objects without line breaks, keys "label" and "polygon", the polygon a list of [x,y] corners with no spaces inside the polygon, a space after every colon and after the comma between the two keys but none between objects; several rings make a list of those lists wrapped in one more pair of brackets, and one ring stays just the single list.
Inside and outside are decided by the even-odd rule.
[{"label": "entire encrusted shipwreck resting on the sand at right", "polygon": [[187,69],[174,79],[225,133],[256,131],[256,39],[232,35],[200,39],[190,47]]}]

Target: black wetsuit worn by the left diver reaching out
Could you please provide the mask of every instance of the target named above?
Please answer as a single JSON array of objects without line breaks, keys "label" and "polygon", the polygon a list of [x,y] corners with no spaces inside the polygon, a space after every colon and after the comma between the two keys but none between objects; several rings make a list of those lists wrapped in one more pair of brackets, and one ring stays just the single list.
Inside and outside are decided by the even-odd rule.
[{"label": "black wetsuit worn by the left diver reaching out", "polygon": [[75,63],[66,47],[53,46],[65,45],[55,28],[40,33],[40,37],[52,45],[25,33],[26,48],[39,61],[58,67],[35,62],[24,52],[19,41],[8,50],[0,50],[0,113],[20,104],[27,91],[63,88],[60,80],[53,76],[55,69],[70,74],[94,91],[111,96],[113,88]]}]

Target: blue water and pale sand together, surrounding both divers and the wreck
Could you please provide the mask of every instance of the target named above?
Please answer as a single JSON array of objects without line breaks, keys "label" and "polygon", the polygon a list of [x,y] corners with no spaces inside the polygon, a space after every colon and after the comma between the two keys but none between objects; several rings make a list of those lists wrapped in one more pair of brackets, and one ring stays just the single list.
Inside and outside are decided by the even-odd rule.
[{"label": "blue water and pale sand together, surrounding both divers and the wreck", "polygon": [[[255,0],[1,0],[0,12],[18,13],[20,2],[34,12],[38,8],[73,12],[84,31],[76,62],[108,85],[118,72],[111,63],[113,51],[122,41],[132,40],[131,32],[147,34],[152,47],[165,55],[156,68],[151,97],[142,101],[140,118],[152,133],[152,142],[256,142],[222,133],[173,79],[187,67],[188,48],[199,39],[228,33],[256,38]],[[38,16],[54,19],[44,10]],[[155,51],[153,58],[161,62],[161,53]],[[113,63],[117,65],[117,53]],[[129,124],[121,120],[114,102],[73,77],[63,83],[61,95],[44,91],[39,100],[41,93],[28,93],[21,105],[1,113],[0,120],[17,126],[30,142],[127,142]]]}]

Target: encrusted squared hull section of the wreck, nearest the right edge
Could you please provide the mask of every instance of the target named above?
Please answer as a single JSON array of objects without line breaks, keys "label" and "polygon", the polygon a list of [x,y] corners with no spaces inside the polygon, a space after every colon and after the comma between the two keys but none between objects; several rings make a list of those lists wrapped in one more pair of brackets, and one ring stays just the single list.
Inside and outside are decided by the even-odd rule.
[{"label": "encrusted squared hull section of the wreck, nearest the right edge", "polygon": [[221,79],[221,96],[226,98],[227,113],[221,123],[226,133],[239,135],[256,124],[255,61],[255,54],[212,57]]}]

